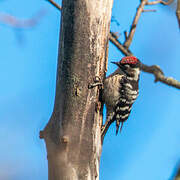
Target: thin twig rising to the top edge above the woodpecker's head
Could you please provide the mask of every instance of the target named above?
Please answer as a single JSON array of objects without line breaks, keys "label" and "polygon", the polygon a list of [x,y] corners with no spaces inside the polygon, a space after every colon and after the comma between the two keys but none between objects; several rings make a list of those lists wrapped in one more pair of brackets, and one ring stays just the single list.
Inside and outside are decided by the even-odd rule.
[{"label": "thin twig rising to the top edge above the woodpecker's head", "polygon": [[133,23],[131,25],[129,35],[128,35],[126,41],[124,42],[124,46],[127,48],[129,48],[129,46],[133,40],[134,33],[136,31],[137,23],[139,21],[141,13],[143,12],[144,6],[147,4],[147,2],[148,2],[147,0],[141,0],[141,3],[139,5],[139,7],[137,8],[136,15],[135,15]]}]

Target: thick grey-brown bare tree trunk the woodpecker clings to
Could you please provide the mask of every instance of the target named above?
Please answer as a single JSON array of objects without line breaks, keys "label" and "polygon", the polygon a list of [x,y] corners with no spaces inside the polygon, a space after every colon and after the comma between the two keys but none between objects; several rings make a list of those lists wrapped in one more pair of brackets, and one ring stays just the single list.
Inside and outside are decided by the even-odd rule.
[{"label": "thick grey-brown bare tree trunk the woodpecker clings to", "polygon": [[63,0],[56,96],[45,139],[49,180],[99,179],[104,78],[113,0]]}]

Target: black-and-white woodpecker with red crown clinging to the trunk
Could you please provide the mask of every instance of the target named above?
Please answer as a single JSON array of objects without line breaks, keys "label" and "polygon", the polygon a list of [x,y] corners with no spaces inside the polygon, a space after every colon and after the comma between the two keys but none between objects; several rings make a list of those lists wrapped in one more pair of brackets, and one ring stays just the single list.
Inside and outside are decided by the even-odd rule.
[{"label": "black-and-white woodpecker with red crown clinging to the trunk", "polygon": [[104,136],[112,122],[116,121],[116,135],[128,119],[132,105],[139,94],[139,75],[141,62],[134,56],[126,56],[119,62],[112,62],[118,69],[106,77],[102,100],[106,105],[106,122],[102,127]]}]

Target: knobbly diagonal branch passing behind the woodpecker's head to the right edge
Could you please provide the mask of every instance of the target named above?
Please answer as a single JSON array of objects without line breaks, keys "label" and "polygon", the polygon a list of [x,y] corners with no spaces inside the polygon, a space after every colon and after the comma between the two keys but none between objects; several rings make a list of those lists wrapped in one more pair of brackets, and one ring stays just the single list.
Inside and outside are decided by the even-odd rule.
[{"label": "knobbly diagonal branch passing behind the woodpecker's head to the right edge", "polygon": [[[124,47],[115,37],[109,34],[109,40],[125,55],[125,56],[132,56],[132,52]],[[155,76],[155,82],[162,82],[164,84],[167,84],[169,86],[175,87],[177,89],[180,89],[180,82],[171,78],[171,77],[165,77],[163,71],[160,69],[159,66],[153,65],[153,66],[147,66],[145,64],[141,65],[141,70],[150,74],[153,74]]]}]

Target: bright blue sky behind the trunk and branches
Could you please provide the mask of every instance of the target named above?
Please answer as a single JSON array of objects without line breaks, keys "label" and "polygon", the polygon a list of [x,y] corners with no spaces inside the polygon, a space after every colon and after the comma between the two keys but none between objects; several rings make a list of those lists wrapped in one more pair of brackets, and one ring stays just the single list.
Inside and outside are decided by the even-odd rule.
[{"label": "bright blue sky behind the trunk and branches", "polygon": [[[139,1],[114,1],[111,29],[128,30]],[[158,64],[167,76],[180,80],[180,36],[174,9],[153,6],[139,21],[132,52],[145,64]],[[44,142],[38,138],[54,103],[60,13],[46,1],[2,1],[0,12],[31,18],[46,15],[34,28],[15,30],[0,23],[0,179],[45,180]],[[20,39],[21,37],[21,39]],[[21,40],[21,41],[20,41]],[[109,60],[122,54],[110,44]],[[108,73],[115,70],[109,64]],[[140,95],[123,131],[113,125],[104,142],[102,180],[169,180],[180,159],[179,90],[154,83],[142,73]]]}]

